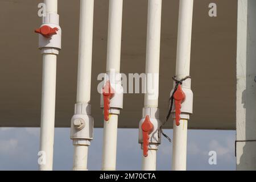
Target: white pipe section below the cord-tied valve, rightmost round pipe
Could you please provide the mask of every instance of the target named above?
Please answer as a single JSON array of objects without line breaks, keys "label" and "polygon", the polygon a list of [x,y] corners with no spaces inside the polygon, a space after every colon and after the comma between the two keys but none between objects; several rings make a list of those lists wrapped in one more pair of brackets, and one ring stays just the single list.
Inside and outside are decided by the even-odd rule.
[{"label": "white pipe section below the cord-tied valve, rightmost round pipe", "polygon": [[187,159],[187,129],[188,120],[180,119],[180,125],[176,126],[174,119],[174,141],[172,144],[172,169],[185,171]]}]

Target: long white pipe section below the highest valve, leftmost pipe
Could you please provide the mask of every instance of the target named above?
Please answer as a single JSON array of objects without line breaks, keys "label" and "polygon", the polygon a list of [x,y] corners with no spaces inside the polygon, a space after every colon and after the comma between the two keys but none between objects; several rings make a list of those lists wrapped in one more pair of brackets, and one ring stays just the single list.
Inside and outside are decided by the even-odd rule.
[{"label": "long white pipe section below the highest valve, leftmost pipe", "polygon": [[40,151],[43,151],[44,154],[46,154],[46,164],[40,164],[40,170],[52,170],[55,122],[56,59],[56,55],[43,54]]}]

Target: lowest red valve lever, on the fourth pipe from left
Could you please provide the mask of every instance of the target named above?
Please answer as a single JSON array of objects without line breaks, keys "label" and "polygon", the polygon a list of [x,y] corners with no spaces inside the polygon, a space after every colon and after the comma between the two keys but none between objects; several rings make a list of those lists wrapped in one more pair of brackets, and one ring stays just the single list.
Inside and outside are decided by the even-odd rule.
[{"label": "lowest red valve lever, on the fourth pipe from left", "polygon": [[141,129],[143,134],[143,155],[144,157],[146,157],[149,144],[149,135],[154,129],[154,125],[150,122],[150,118],[148,115],[146,115],[145,121],[141,125]]}]

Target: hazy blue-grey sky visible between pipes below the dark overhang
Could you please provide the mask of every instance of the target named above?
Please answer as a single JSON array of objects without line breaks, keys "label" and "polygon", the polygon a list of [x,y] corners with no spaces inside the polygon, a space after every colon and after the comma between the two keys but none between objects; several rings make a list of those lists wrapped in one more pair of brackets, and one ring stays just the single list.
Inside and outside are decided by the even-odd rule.
[{"label": "hazy blue-grey sky visible between pipes below the dark overhang", "polygon": [[[172,138],[172,130],[164,130]],[[101,169],[103,130],[94,129],[89,147],[88,169]],[[69,128],[55,129],[54,170],[72,170],[73,146]],[[236,131],[188,130],[187,170],[235,170]],[[38,170],[40,128],[0,127],[0,170]],[[210,165],[209,151],[216,151],[217,164]],[[141,170],[142,150],[138,129],[118,129],[117,170]],[[171,170],[172,143],[162,137],[157,170]]]}]

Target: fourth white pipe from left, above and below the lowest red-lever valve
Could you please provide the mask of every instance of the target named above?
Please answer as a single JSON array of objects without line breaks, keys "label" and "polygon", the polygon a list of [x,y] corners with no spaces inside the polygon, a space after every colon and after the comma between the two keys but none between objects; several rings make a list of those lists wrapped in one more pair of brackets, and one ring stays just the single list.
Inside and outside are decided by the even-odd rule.
[{"label": "fourth white pipe from left, above and below the lowest red-lever valve", "polygon": [[[146,49],[147,92],[144,94],[144,107],[158,107],[161,13],[162,0],[148,0]],[[146,158],[142,156],[142,170],[156,169],[156,148],[149,147],[148,156]]]}]

